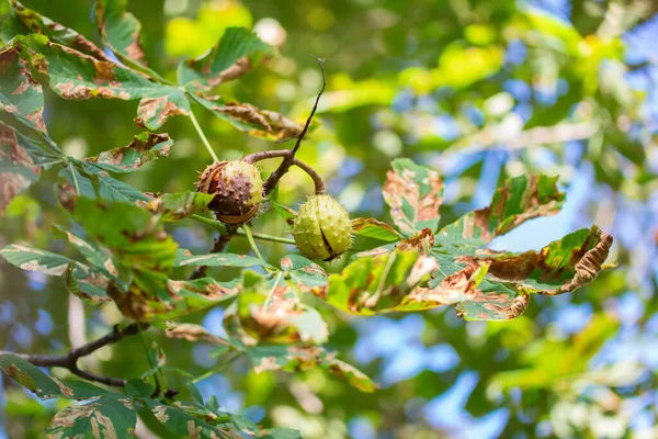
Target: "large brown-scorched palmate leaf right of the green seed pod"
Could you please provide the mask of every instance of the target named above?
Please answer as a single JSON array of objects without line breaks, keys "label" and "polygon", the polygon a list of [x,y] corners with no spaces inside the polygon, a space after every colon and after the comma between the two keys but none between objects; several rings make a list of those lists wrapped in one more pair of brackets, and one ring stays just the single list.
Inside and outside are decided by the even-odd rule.
[{"label": "large brown-scorched palmate leaf right of the green seed pod", "polygon": [[[327,285],[311,291],[329,304],[361,315],[421,311],[455,305],[466,319],[510,319],[529,305],[531,293],[563,294],[594,279],[608,256],[612,237],[597,226],[581,229],[523,254],[483,248],[525,221],[559,212],[565,194],[556,177],[520,176],[499,188],[491,204],[442,228],[418,230],[417,210],[438,222],[439,176],[410,160],[394,161],[384,194],[396,224],[409,238],[394,241],[376,223],[372,237],[382,247],[354,255]],[[432,188],[435,190],[432,191]],[[365,221],[356,219],[356,227]]]}]

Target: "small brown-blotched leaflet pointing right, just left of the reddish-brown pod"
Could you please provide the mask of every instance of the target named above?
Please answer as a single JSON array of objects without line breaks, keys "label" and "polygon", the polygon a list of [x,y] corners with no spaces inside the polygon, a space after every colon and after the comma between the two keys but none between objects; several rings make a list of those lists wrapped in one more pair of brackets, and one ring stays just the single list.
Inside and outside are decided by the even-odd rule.
[{"label": "small brown-blotched leaflet pointing right, just left of the reddish-brown pod", "polygon": [[87,162],[110,165],[113,171],[133,171],[141,165],[169,156],[173,140],[168,134],[141,133],[135,136],[128,146],[110,149],[97,157],[86,158]]}]

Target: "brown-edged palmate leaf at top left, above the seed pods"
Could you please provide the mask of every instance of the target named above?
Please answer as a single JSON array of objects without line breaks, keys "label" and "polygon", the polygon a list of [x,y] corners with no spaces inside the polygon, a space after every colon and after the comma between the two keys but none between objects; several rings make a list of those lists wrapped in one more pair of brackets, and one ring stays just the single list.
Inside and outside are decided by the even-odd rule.
[{"label": "brown-edged palmate leaf at top left, above the seed pods", "polygon": [[[300,132],[302,126],[279,113],[195,94],[212,85],[238,78],[271,53],[271,47],[254,34],[246,29],[229,30],[208,55],[181,65],[181,86],[185,87],[175,87],[138,60],[140,26],[125,11],[125,0],[99,0],[97,14],[104,43],[127,67],[114,63],[75,31],[18,2],[3,30],[4,38],[13,40],[2,52],[18,54],[25,66],[45,75],[50,88],[61,98],[139,100],[135,122],[149,130],[160,127],[170,116],[190,115],[190,99],[194,99],[218,117],[254,136],[282,139]],[[26,33],[41,35],[22,35]],[[43,99],[39,108],[43,108]],[[29,114],[36,117],[34,112]]]}]

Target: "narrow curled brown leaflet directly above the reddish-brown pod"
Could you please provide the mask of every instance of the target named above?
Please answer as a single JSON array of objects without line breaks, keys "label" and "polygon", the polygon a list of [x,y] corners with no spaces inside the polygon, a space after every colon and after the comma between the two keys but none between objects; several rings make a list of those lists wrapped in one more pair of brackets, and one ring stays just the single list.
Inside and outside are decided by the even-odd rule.
[{"label": "narrow curled brown leaflet directly above the reddish-brown pod", "polygon": [[192,99],[235,128],[252,136],[283,140],[295,137],[302,132],[299,124],[283,114],[261,110],[250,103],[226,102],[222,98],[202,98],[196,94],[192,94]]}]

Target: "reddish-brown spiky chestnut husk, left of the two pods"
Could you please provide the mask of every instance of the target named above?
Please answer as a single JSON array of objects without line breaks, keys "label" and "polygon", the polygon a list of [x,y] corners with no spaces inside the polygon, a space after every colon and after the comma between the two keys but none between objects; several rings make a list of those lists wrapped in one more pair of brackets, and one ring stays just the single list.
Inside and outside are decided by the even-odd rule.
[{"label": "reddish-brown spiky chestnut husk, left of the two pods", "polygon": [[215,194],[208,209],[225,224],[245,224],[258,213],[263,200],[260,170],[242,160],[208,166],[196,183],[197,192]]}]

